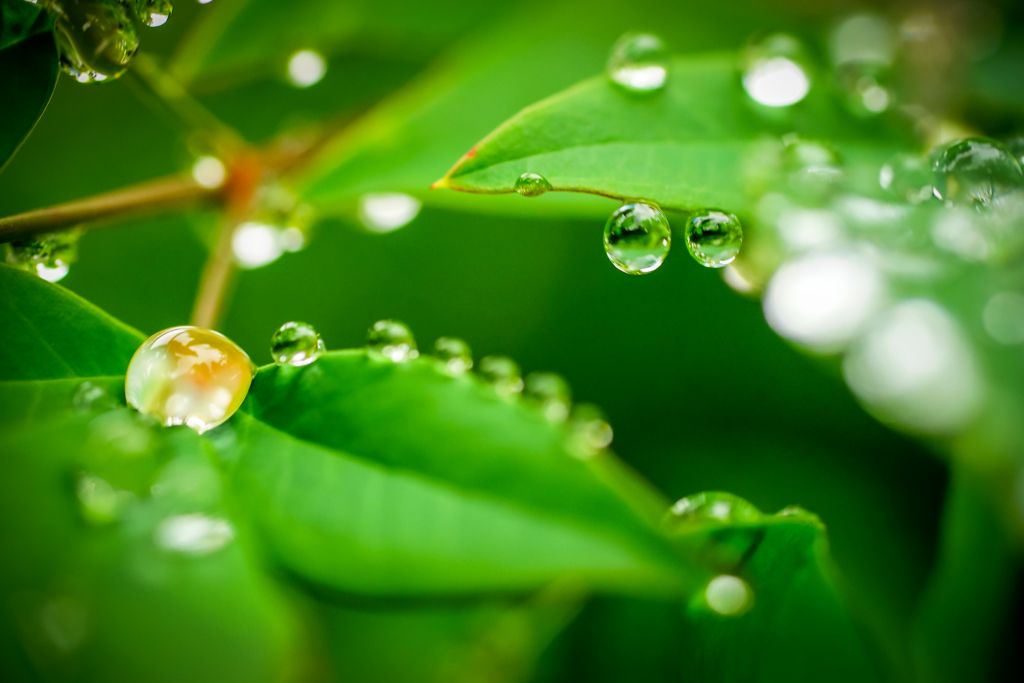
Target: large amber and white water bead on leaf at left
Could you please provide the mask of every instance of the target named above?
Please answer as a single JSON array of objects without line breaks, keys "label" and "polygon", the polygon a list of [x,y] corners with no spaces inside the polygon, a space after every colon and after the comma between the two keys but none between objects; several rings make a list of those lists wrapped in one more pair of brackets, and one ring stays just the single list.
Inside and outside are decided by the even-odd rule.
[{"label": "large amber and white water bead on leaf at left", "polygon": [[125,376],[125,398],[165,425],[202,433],[227,420],[245,399],[253,365],[230,339],[191,326],[146,339]]}]

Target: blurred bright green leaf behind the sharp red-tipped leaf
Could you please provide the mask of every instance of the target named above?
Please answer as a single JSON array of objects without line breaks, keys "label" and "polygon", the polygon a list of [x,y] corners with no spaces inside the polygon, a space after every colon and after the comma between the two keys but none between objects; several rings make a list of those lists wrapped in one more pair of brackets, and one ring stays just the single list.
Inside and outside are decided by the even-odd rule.
[{"label": "blurred bright green leaf behind the sharp red-tipped leaf", "polygon": [[[583,14],[586,22],[580,20]],[[473,200],[427,187],[502,121],[600,72],[611,45],[626,31],[654,31],[677,52],[696,52],[738,48],[766,26],[809,24],[782,17],[766,3],[569,0],[515,5],[342,131],[296,180],[305,199],[327,213],[351,211],[360,194],[374,191],[403,191],[468,211],[607,213],[607,203],[586,197]]]}]

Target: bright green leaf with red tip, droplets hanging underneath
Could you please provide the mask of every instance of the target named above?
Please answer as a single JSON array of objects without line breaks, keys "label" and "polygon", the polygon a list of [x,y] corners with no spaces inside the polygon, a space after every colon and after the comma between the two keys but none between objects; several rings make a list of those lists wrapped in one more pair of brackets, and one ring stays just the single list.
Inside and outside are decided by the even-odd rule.
[{"label": "bright green leaf with red tip, droplets hanging underneath", "polygon": [[664,91],[647,97],[596,77],[520,112],[436,186],[510,194],[520,174],[534,172],[558,191],[743,212],[756,142],[792,132],[827,141],[859,187],[876,187],[879,166],[905,145],[884,124],[854,118],[822,84],[790,111],[759,106],[746,97],[732,54],[677,57]]}]

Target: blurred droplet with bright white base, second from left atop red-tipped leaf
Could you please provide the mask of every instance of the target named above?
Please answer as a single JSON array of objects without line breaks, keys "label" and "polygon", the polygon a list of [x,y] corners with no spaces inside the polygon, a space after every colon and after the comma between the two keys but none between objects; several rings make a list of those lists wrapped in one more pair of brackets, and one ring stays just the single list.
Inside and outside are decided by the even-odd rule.
[{"label": "blurred droplet with bright white base, second from left atop red-tipped leaf", "polygon": [[811,79],[802,65],[803,46],[784,34],[768,36],[746,50],[743,89],[765,106],[790,106],[807,96]]}]

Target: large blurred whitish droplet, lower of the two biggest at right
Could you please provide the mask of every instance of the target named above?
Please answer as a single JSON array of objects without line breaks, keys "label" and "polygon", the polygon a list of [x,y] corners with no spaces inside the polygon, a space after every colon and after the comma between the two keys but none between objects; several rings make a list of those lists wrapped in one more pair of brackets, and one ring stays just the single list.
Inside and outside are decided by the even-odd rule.
[{"label": "large blurred whitish droplet, lower of the two biggest at right", "polygon": [[843,374],[853,392],[887,421],[949,434],[969,424],[984,384],[956,321],[925,299],[886,311],[851,346]]}]

